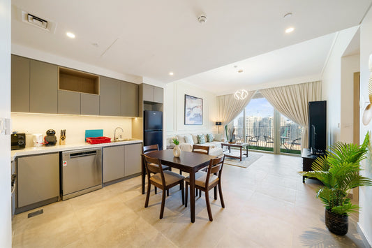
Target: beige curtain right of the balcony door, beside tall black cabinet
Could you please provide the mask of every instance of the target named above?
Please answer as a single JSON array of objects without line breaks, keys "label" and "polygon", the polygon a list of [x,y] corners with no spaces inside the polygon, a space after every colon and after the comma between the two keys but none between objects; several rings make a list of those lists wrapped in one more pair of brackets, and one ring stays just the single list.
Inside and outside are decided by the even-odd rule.
[{"label": "beige curtain right of the balcony door, beside tall black cabinet", "polygon": [[320,81],[306,82],[270,89],[260,89],[262,96],[282,115],[301,125],[304,132],[301,137],[301,150],[308,147],[308,102],[320,101],[322,84]]}]

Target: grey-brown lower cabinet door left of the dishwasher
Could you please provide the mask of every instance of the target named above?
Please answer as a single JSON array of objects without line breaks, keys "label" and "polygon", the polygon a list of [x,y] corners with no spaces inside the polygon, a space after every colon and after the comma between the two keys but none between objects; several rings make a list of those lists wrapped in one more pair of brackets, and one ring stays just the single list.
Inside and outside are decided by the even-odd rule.
[{"label": "grey-brown lower cabinet door left of the dishwasher", "polygon": [[17,208],[25,208],[31,204],[32,207],[29,209],[39,207],[45,205],[40,203],[43,200],[53,198],[48,203],[55,202],[58,196],[58,152],[17,158]]}]

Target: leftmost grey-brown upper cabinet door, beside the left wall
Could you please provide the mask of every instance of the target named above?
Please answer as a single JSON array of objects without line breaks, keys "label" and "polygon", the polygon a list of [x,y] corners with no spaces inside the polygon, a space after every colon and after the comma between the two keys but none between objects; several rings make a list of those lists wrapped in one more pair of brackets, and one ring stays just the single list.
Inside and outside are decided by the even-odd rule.
[{"label": "leftmost grey-brown upper cabinet door, beside the left wall", "polygon": [[30,59],[12,54],[11,110],[30,112]]}]

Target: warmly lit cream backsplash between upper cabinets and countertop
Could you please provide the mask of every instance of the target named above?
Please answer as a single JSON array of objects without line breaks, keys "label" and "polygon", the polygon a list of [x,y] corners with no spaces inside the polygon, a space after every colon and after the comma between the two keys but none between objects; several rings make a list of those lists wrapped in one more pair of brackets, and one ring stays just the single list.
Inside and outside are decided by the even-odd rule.
[{"label": "warmly lit cream backsplash between upper cabinets and countertop", "polygon": [[[124,130],[122,138],[132,138],[132,118],[101,117],[81,115],[47,115],[30,113],[11,113],[12,130],[26,133],[26,147],[32,147],[33,133],[42,133],[48,129],[56,131],[57,140],[61,129],[66,129],[66,144],[84,142],[86,129],[103,129],[103,136],[114,138],[114,129]],[[118,131],[119,133],[119,131]]]}]

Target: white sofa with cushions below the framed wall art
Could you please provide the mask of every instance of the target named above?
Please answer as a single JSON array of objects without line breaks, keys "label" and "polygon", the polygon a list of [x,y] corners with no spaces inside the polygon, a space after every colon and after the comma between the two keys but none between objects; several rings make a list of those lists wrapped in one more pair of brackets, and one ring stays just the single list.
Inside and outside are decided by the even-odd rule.
[{"label": "white sofa with cushions below the framed wall art", "polygon": [[[204,146],[209,146],[209,155],[211,156],[219,156],[221,154],[223,154],[223,150],[221,148],[221,143],[225,142],[224,138],[222,138],[222,133],[219,133],[219,134],[216,134],[216,133],[212,133],[213,136],[214,136],[214,139],[216,138],[217,140],[213,140],[211,142],[208,142],[207,140],[207,133],[203,133],[204,135],[204,139],[205,139],[205,143],[203,144],[200,144],[198,142],[198,134],[201,134],[201,133],[186,133],[186,134],[178,134],[177,136],[172,136],[170,138],[167,139],[167,146],[168,147],[174,147],[174,144],[173,144],[173,139],[176,138],[178,141],[179,141],[179,147],[181,148],[182,151],[187,151],[187,152],[191,152],[193,150],[193,145],[204,145]],[[193,142],[192,143],[188,143],[185,138],[185,136],[189,136],[192,137],[192,140]],[[190,138],[189,138],[190,140]]]}]

